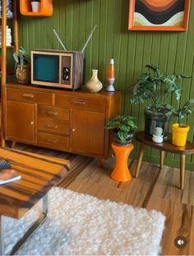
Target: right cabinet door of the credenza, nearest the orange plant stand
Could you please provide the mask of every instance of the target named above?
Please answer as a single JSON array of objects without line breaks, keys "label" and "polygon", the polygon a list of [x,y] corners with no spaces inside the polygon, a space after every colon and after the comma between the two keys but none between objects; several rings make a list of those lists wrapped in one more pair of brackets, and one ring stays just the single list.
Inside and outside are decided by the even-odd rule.
[{"label": "right cabinet door of the credenza, nearest the orange plant stand", "polygon": [[105,114],[73,110],[72,151],[104,154]]}]

